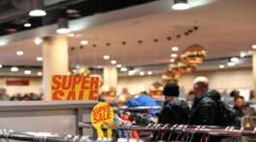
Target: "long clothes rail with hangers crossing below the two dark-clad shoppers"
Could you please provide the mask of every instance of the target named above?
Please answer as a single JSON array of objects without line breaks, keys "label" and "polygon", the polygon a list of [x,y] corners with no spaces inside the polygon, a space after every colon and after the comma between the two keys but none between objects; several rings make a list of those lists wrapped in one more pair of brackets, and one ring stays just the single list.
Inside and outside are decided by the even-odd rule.
[{"label": "long clothes rail with hangers crossing below the two dark-clad shoppers", "polygon": [[[78,127],[89,128],[89,123],[79,123]],[[139,130],[139,131],[170,131],[178,133],[207,133],[217,136],[256,136],[256,128],[253,130],[246,130],[238,127],[217,127],[217,126],[193,126],[193,125],[162,125],[162,124],[149,124],[148,126],[136,126],[132,123],[125,124],[109,124],[102,126],[102,129],[112,130]]]}]

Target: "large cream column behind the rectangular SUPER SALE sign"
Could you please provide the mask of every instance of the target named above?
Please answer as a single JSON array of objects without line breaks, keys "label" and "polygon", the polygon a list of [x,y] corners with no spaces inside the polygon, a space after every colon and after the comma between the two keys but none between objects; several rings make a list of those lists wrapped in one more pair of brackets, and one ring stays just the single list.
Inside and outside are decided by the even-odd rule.
[{"label": "large cream column behind the rectangular SUPER SALE sign", "polygon": [[69,44],[67,36],[46,36],[43,38],[43,94],[44,100],[51,100],[51,78],[53,75],[67,75],[69,71]]}]

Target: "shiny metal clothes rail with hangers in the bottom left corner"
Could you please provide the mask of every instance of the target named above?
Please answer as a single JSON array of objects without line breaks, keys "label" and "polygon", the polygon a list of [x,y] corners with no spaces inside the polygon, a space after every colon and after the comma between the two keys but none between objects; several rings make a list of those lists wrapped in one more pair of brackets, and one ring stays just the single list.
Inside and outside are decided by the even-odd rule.
[{"label": "shiny metal clothes rail with hangers in the bottom left corner", "polygon": [[33,142],[86,142],[89,137],[71,134],[57,134],[50,132],[18,132],[14,130],[0,130],[0,139]]}]

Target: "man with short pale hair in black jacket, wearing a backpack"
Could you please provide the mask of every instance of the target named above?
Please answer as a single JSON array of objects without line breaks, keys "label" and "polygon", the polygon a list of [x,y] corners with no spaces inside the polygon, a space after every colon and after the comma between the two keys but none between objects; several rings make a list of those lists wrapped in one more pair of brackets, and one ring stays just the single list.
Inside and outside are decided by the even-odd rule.
[{"label": "man with short pale hair in black jacket, wearing a backpack", "polygon": [[[193,91],[196,95],[190,116],[190,125],[232,126],[235,113],[233,109],[221,101],[221,96],[216,90],[209,89],[206,77],[197,77],[193,82]],[[200,141],[200,134],[193,141]],[[209,142],[218,142],[219,137],[212,136]]]}]

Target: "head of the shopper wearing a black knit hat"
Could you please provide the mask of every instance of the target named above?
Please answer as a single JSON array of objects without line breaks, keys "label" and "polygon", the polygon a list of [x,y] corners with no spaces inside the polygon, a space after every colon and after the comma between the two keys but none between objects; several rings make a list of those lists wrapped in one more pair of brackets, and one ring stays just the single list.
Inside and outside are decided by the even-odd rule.
[{"label": "head of the shopper wearing a black knit hat", "polygon": [[172,101],[174,98],[179,97],[179,89],[180,87],[177,83],[166,83],[162,92],[165,101]]}]

